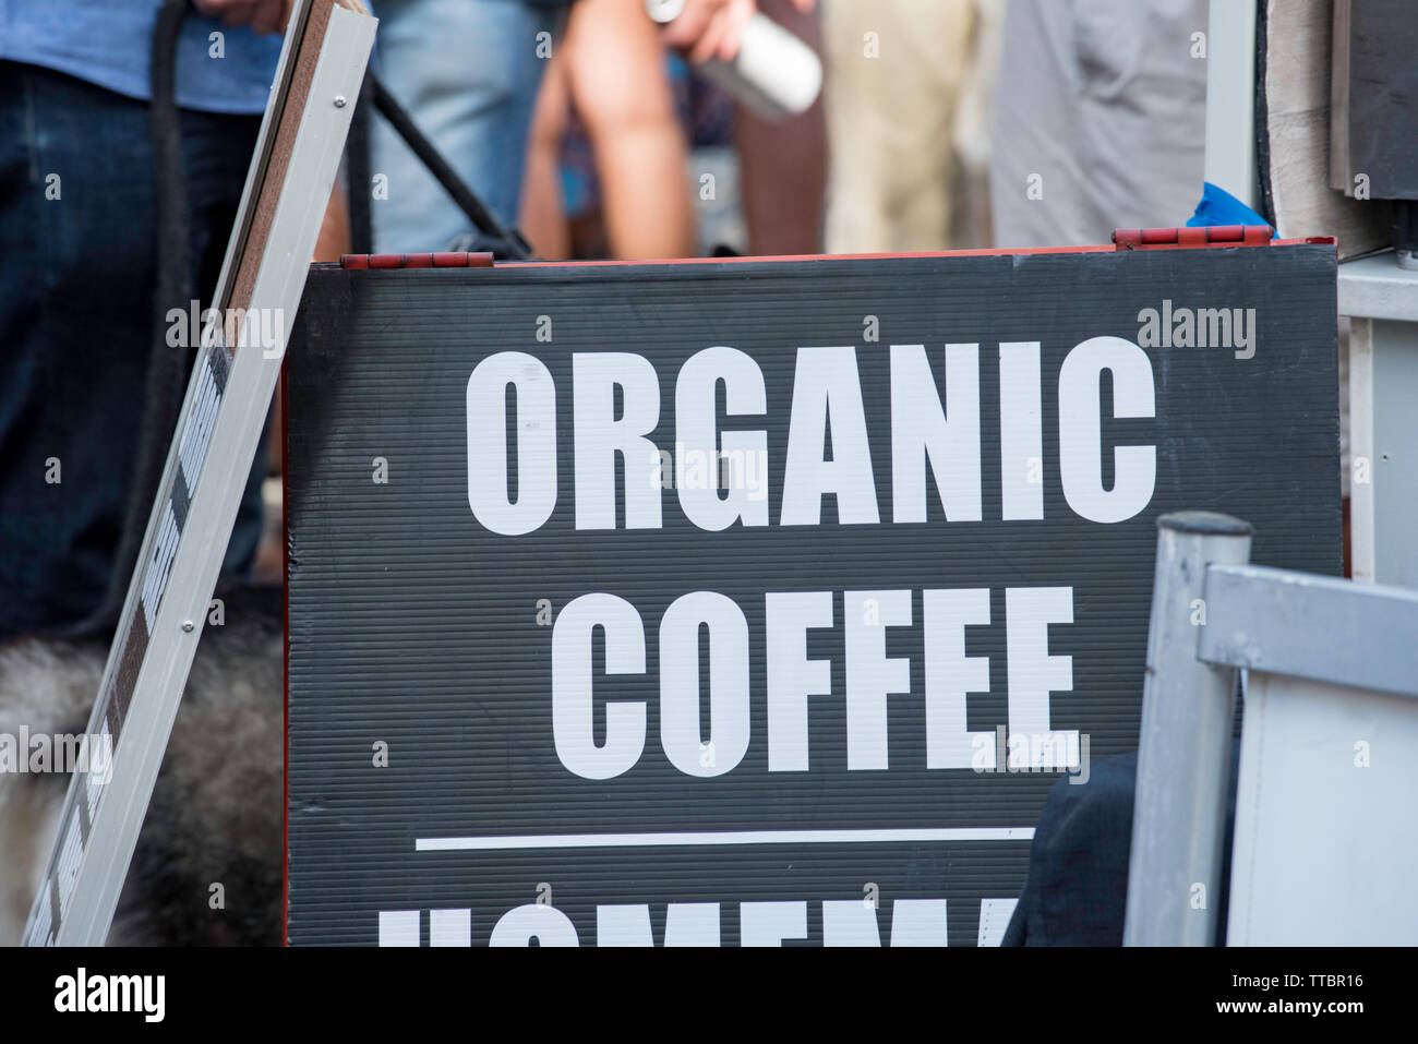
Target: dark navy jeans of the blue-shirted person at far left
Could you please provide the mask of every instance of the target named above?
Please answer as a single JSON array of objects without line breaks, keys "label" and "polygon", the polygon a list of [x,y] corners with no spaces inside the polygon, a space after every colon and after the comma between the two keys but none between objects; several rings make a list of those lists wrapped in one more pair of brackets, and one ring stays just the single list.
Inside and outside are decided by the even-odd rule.
[{"label": "dark navy jeans of the blue-shirted person at far left", "polygon": [[[189,282],[206,301],[259,116],[180,122]],[[146,102],[0,61],[0,638],[72,627],[105,594],[157,331],[153,193]],[[228,570],[261,533],[247,492]]]}]

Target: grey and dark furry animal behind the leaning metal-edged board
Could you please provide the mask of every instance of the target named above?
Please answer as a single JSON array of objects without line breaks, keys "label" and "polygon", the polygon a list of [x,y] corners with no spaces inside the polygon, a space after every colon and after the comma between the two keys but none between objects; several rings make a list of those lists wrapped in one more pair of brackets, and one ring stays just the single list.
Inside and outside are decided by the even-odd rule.
[{"label": "grey and dark furry animal behind the leaning metal-edged board", "polygon": [[[225,624],[197,645],[111,946],[281,943],[281,589],[218,594]],[[0,733],[82,733],[106,657],[106,637],[0,643]],[[68,782],[0,773],[0,945],[20,942]]]}]

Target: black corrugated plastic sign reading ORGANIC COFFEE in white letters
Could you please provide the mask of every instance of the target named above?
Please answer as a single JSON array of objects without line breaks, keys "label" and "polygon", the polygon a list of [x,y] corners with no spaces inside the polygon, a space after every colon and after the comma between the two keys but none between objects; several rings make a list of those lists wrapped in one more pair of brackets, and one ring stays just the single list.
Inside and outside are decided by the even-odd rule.
[{"label": "black corrugated plastic sign reading ORGANIC COFFEE in white letters", "polygon": [[292,943],[998,939],[1167,511],[1339,572],[1327,245],[311,274]]}]

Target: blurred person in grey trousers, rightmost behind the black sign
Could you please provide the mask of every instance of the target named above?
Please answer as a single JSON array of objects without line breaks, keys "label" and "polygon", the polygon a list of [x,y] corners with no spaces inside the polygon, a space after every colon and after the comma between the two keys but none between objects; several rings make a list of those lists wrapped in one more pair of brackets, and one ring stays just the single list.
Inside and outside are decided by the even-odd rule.
[{"label": "blurred person in grey trousers, rightmost behind the black sign", "polygon": [[[991,204],[1000,247],[1109,243],[1201,199],[1207,0],[1008,0]],[[1204,51],[1201,52],[1204,54]]]}]

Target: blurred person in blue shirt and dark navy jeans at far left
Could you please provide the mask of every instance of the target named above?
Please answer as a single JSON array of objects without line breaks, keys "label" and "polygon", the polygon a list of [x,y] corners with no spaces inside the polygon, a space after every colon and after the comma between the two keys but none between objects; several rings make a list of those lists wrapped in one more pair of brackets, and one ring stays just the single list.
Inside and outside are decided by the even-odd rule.
[{"label": "blurred person in blue shirt and dark navy jeans at far left", "polygon": [[[133,565],[116,562],[125,516],[136,508],[140,531],[150,506],[133,492],[150,360],[177,353],[184,386],[196,356],[166,348],[155,301],[160,7],[0,0],[0,638],[112,624]],[[289,7],[194,0],[182,26],[187,296],[216,284]],[[261,533],[257,455],[228,573],[250,567]]]}]

